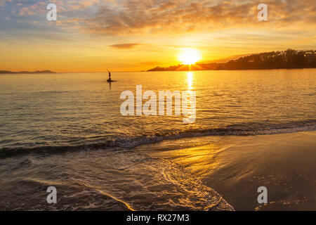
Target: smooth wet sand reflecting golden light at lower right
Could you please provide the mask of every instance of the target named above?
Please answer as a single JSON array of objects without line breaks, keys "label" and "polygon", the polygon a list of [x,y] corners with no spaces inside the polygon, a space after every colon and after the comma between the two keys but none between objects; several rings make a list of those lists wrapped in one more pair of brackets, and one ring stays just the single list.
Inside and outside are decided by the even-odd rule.
[{"label": "smooth wet sand reflecting golden light at lower right", "polygon": [[[164,141],[138,150],[185,167],[235,210],[316,210],[316,131],[190,141],[208,138],[192,148]],[[259,186],[268,188],[268,204],[258,204]]]}]

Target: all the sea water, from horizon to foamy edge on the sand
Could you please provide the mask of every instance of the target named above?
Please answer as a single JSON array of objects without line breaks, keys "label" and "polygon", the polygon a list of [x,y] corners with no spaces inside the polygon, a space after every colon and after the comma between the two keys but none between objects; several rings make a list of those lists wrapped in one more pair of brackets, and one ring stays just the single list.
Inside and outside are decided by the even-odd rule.
[{"label": "all the sea water, from horizon to foamy edge on the sand", "polygon": [[[113,72],[109,84],[106,73],[0,75],[0,208],[232,210],[185,167],[133,149],[315,131],[315,77],[315,69]],[[139,84],[157,94],[196,91],[196,121],[121,115],[121,92],[136,94]],[[48,186],[62,196],[57,205],[46,203]]]}]

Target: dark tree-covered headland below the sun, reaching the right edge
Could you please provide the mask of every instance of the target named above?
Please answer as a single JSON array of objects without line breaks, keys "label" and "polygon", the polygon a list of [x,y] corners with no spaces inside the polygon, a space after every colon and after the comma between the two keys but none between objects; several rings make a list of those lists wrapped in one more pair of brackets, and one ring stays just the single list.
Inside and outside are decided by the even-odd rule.
[{"label": "dark tree-covered headland below the sun, reaching the right edge", "polygon": [[244,56],[227,63],[196,63],[193,65],[173,65],[168,68],[156,67],[147,71],[187,71],[187,70],[268,70],[316,68],[316,51],[271,51]]}]

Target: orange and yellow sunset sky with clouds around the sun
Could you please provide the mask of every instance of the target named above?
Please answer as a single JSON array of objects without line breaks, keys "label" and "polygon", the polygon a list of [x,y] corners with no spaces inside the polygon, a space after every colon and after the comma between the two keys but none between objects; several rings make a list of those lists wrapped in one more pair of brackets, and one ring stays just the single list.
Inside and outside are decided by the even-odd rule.
[{"label": "orange and yellow sunset sky with clouds around the sun", "polygon": [[[46,6],[57,20],[46,20]],[[259,21],[258,4],[268,6]],[[0,0],[0,70],[141,71],[316,49],[316,1]]]}]

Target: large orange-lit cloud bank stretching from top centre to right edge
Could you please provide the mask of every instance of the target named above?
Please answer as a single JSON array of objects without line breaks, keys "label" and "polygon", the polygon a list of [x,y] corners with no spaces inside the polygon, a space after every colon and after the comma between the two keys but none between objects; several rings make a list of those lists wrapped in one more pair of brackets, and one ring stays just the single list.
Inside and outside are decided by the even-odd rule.
[{"label": "large orange-lit cloud bank stretching from top centre to right edge", "polygon": [[[316,23],[316,1],[266,0],[271,27]],[[122,0],[81,20],[86,32],[105,35],[180,34],[262,27],[258,1]],[[267,24],[267,23],[265,23]]]}]

